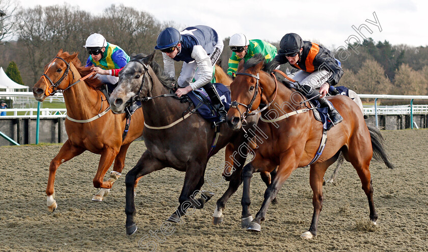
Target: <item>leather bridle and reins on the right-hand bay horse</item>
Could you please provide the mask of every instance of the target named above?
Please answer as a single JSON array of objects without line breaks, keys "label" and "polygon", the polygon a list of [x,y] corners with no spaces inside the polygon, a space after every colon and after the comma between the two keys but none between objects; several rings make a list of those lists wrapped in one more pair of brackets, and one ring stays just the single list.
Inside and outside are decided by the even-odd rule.
[{"label": "leather bridle and reins on the right-hand bay horse", "polygon": [[[278,91],[278,83],[277,83],[277,80],[276,80],[276,77],[275,77],[275,75],[273,74],[273,73],[271,73],[272,74],[272,76],[274,77],[274,80],[275,80],[275,95],[274,95],[274,98],[271,100],[271,102],[269,103],[269,104],[267,104],[267,105],[265,105],[262,109],[259,109],[259,110],[257,110],[257,111],[255,111],[255,112],[251,112],[251,108],[253,107],[253,103],[254,103],[254,101],[255,101],[255,99],[256,99],[256,97],[257,97],[257,95],[258,95],[258,89],[259,89],[259,87],[260,87],[260,99],[261,99],[261,97],[262,97],[262,95],[263,95],[263,88],[260,86],[260,84],[259,84],[259,81],[260,81],[260,77],[259,77],[259,73],[257,72],[257,75],[254,75],[254,74],[251,74],[251,73],[247,73],[247,72],[237,72],[237,73],[235,73],[236,75],[247,75],[247,76],[250,76],[250,77],[253,77],[253,78],[255,78],[257,81],[256,81],[256,86],[255,86],[255,91],[254,91],[254,95],[253,95],[253,97],[251,98],[251,101],[250,101],[250,103],[248,104],[248,105],[245,105],[245,104],[242,104],[242,103],[238,103],[236,100],[234,100],[231,104],[230,104],[230,107],[231,108],[236,108],[237,110],[238,110],[238,112],[239,112],[239,115],[240,115],[240,120],[241,121],[245,121],[245,119],[248,117],[248,116],[252,116],[252,115],[257,115],[258,113],[261,113],[262,111],[264,111],[265,109],[267,109],[267,108],[269,108],[269,106],[273,103],[273,101],[275,100],[275,98],[276,98],[276,95],[277,95],[277,91]],[[241,113],[240,112],[240,110],[239,110],[239,108],[238,108],[238,105],[241,105],[241,106],[243,106],[243,107],[245,107],[247,110],[246,111],[244,111],[243,113]]]}]

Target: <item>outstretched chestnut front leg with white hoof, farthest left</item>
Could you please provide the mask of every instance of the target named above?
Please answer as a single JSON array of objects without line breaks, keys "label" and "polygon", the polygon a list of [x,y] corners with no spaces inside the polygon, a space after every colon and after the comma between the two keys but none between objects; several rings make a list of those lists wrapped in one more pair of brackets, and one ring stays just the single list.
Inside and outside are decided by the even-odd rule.
[{"label": "outstretched chestnut front leg with white hoof, farthest left", "polygon": [[46,195],[47,195],[47,209],[49,212],[55,211],[57,209],[57,201],[55,198],[55,189],[53,188],[53,184],[55,183],[55,174],[57,172],[57,168],[60,164],[74,158],[82,154],[85,149],[81,147],[77,147],[71,144],[69,140],[67,140],[64,145],[61,147],[60,152],[57,154],[55,158],[50,161],[49,165],[49,177],[47,179],[47,187],[46,187]]}]

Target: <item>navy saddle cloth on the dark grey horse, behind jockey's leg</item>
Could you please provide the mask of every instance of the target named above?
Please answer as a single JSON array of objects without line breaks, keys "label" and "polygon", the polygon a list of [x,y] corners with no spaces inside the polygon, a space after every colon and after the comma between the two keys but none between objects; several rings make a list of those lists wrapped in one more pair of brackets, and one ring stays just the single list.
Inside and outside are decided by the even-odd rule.
[{"label": "navy saddle cloth on the dark grey horse, behind jockey's leg", "polygon": [[[221,83],[214,83],[217,92],[219,92],[220,99],[226,111],[229,110],[231,104],[230,91]],[[211,100],[203,88],[196,89],[187,94],[192,100],[192,103],[198,108],[197,112],[207,121],[218,122],[220,121],[216,109],[212,107]]]}]

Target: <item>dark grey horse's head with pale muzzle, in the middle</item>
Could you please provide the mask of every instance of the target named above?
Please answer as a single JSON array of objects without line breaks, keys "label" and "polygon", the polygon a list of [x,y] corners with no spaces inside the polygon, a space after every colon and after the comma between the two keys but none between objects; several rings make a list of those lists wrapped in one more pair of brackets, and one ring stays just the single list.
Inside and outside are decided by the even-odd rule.
[{"label": "dark grey horse's head with pale muzzle, in the middle", "polygon": [[119,82],[110,95],[110,106],[114,113],[123,113],[126,106],[137,99],[144,98],[153,87],[151,78],[147,76],[149,65],[155,52],[151,55],[138,54],[119,72]]}]

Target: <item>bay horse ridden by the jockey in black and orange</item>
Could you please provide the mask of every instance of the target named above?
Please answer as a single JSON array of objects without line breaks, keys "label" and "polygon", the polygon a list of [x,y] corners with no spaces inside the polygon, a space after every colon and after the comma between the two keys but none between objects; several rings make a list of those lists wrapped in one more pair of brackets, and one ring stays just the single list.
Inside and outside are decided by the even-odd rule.
[{"label": "bay horse ridden by the jockey in black and orange", "polygon": [[[265,219],[269,204],[283,183],[293,170],[314,161],[322,142],[323,124],[315,120],[306,98],[285,85],[278,85],[276,78],[271,78],[269,73],[277,65],[273,61],[265,66],[263,56],[256,55],[244,66],[239,66],[236,78],[230,85],[233,102],[227,114],[227,122],[232,129],[239,129],[246,115],[257,110],[260,104],[268,106],[261,113],[257,124],[265,138],[259,137],[263,141],[257,142],[254,159],[242,171],[242,226],[250,231],[261,230],[260,223]],[[262,70],[264,66],[267,72]],[[368,199],[369,218],[374,225],[378,214],[373,203],[370,160],[374,156],[387,167],[394,168],[386,155],[382,135],[378,129],[367,127],[356,103],[344,95],[330,96],[328,99],[339,111],[343,121],[328,131],[328,138],[331,140],[327,141],[319,159],[310,164],[309,183],[313,191],[314,211],[309,230],[302,234],[306,239],[316,236],[319,213],[323,206],[323,177],[340,153],[357,171]],[[276,177],[266,189],[261,208],[253,219],[249,211],[252,174],[269,172],[276,166]]]}]

